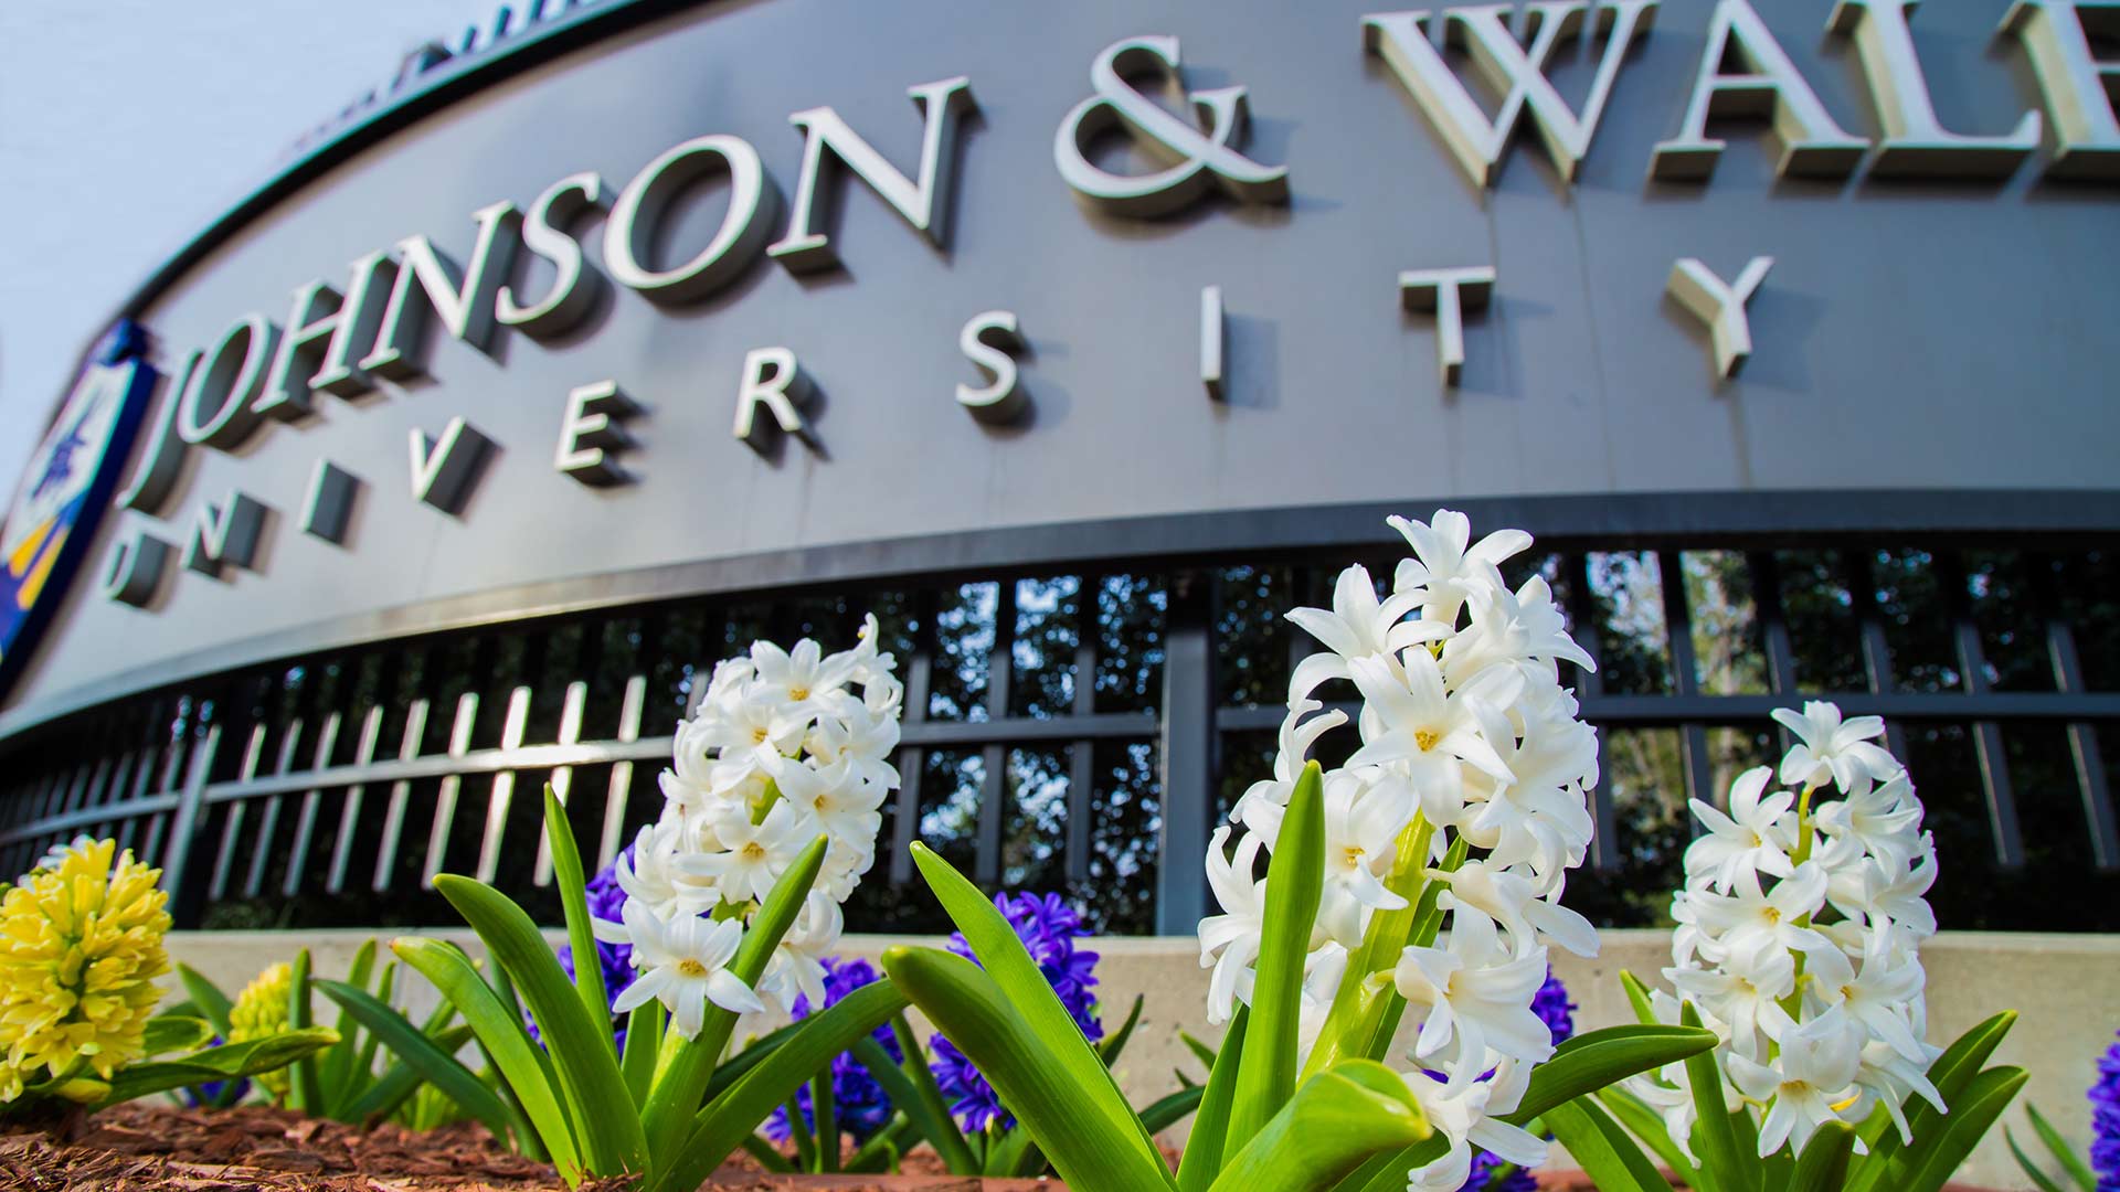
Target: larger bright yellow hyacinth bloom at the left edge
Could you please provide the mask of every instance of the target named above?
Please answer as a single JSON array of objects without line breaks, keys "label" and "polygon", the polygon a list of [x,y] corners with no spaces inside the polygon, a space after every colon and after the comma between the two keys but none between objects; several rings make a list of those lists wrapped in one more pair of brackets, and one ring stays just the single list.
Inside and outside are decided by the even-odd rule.
[{"label": "larger bright yellow hyacinth bloom at the left edge", "polygon": [[0,1103],[23,1084],[140,1058],[146,1020],[170,971],[170,901],[161,870],[76,840],[0,899]]}]

